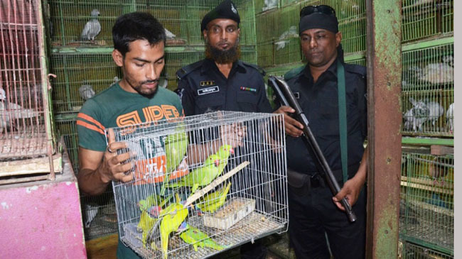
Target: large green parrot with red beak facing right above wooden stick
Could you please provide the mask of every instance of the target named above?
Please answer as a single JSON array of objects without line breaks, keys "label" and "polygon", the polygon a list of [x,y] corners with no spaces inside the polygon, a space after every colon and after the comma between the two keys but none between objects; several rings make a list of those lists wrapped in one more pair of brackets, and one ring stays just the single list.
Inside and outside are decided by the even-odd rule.
[{"label": "large green parrot with red beak facing right above wooden stick", "polygon": [[168,187],[192,187],[191,192],[194,193],[198,187],[210,184],[210,182],[220,175],[223,169],[225,169],[227,160],[231,154],[234,154],[232,146],[222,145],[217,153],[208,156],[201,167],[196,168],[178,182],[168,184]]}]

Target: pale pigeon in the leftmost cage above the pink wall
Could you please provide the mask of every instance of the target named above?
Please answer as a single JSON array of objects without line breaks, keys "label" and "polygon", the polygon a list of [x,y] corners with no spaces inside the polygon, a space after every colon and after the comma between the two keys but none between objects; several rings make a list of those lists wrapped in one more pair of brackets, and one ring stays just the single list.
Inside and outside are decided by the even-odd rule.
[{"label": "pale pigeon in the leftmost cage above the pink wall", "polygon": [[31,119],[38,117],[40,113],[33,109],[24,109],[21,105],[9,102],[6,92],[0,88],[0,132],[6,128],[16,128],[17,119]]}]

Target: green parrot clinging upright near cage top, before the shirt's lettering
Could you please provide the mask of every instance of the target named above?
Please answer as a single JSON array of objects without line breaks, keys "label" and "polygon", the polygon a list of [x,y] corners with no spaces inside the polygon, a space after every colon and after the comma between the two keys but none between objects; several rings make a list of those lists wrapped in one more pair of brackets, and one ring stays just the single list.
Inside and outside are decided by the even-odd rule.
[{"label": "green parrot clinging upright near cage top, before the shirt's lettering", "polygon": [[185,126],[182,124],[176,128],[176,133],[170,134],[163,139],[166,157],[166,172],[163,177],[161,195],[165,192],[166,183],[170,180],[170,173],[176,170],[183,160],[186,150],[188,149],[188,134],[185,131]]}]

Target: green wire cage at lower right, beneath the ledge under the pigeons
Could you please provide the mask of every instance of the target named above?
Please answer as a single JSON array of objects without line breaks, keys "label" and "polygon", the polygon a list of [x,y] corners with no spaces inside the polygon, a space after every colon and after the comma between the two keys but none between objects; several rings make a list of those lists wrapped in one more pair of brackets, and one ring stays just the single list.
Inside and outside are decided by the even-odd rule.
[{"label": "green wire cage at lower right, beneath the ledge under the pigeons", "polygon": [[453,156],[403,152],[401,187],[401,238],[453,254]]}]

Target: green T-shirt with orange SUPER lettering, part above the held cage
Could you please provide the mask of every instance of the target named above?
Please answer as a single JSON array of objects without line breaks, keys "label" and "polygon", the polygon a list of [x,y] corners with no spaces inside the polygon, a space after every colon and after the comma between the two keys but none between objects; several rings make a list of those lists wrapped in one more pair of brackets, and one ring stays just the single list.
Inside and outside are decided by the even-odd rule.
[{"label": "green T-shirt with orange SUPER lettering, part above the held cage", "polygon": [[127,92],[114,84],[85,101],[77,115],[79,146],[104,152],[107,148],[106,128],[123,127],[183,117],[183,107],[177,94],[159,87],[154,97]]}]

